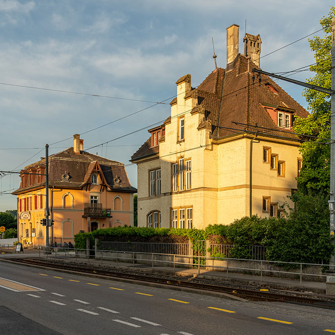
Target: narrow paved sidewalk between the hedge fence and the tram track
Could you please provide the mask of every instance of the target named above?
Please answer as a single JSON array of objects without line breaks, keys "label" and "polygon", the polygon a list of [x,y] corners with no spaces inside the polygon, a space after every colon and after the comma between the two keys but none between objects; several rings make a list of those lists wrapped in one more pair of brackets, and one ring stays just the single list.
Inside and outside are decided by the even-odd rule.
[{"label": "narrow paved sidewalk between the hedge fence and the tram track", "polygon": [[[1,252],[1,251],[0,251]],[[42,252],[41,252],[42,255]],[[36,249],[25,249],[24,253],[16,253],[16,254],[0,254],[0,261],[2,259],[8,258],[36,258],[39,257],[39,250]],[[43,258],[56,258],[55,254],[44,255]],[[76,262],[74,252],[66,253],[57,253],[57,259],[63,259],[65,262]],[[77,262],[91,264],[96,266],[110,267],[115,269],[124,269],[130,271],[137,272],[145,272],[145,273],[165,273],[165,274],[173,274],[173,267],[169,266],[154,266],[151,264],[132,264],[126,262],[116,262],[116,261],[106,261],[101,262],[100,259],[86,259],[86,258],[77,258]],[[220,282],[228,282],[228,283],[239,283],[245,284],[248,286],[257,286],[259,288],[278,288],[278,289],[286,289],[286,290],[299,290],[306,291],[308,293],[315,292],[325,294],[325,282],[318,281],[306,281],[303,280],[301,282],[299,280],[286,279],[286,278],[278,278],[278,277],[269,277],[264,276],[256,276],[256,275],[248,275],[243,273],[228,273],[227,271],[211,271],[209,269],[203,268],[175,268],[176,276],[182,277],[197,277],[197,278],[205,278],[213,281]]]}]

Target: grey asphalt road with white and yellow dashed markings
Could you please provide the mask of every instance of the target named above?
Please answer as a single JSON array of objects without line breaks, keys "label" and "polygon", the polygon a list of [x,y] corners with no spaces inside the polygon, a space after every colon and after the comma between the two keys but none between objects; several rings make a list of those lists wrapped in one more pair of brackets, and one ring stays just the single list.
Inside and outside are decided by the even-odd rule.
[{"label": "grey asphalt road with white and yellow dashed markings", "polygon": [[333,310],[241,302],[0,262],[4,335],[330,332],[335,333]]}]

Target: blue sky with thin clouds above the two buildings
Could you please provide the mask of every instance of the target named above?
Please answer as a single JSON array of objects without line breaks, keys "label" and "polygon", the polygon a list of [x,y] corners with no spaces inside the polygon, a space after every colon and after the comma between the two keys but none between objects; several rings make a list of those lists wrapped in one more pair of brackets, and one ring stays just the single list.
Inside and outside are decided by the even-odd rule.
[{"label": "blue sky with thin clouds above the two buildings", "polygon": [[[214,69],[211,38],[217,66],[225,68],[226,28],[232,24],[240,26],[240,52],[246,27],[261,35],[264,56],[319,30],[331,5],[0,0],[0,171],[20,171],[45,157],[46,143],[49,154],[72,147],[73,135],[80,134],[84,150],[96,146],[88,151],[125,163],[137,187],[137,166],[129,160],[149,138],[147,130],[170,115],[176,80],[190,73],[196,87]],[[314,35],[323,36],[309,38]],[[262,58],[261,68],[283,72],[313,62],[305,38]],[[311,75],[304,71],[292,78]],[[302,87],[278,84],[307,108]],[[16,196],[6,193],[19,185],[18,174],[0,178],[0,211],[16,208]]]}]

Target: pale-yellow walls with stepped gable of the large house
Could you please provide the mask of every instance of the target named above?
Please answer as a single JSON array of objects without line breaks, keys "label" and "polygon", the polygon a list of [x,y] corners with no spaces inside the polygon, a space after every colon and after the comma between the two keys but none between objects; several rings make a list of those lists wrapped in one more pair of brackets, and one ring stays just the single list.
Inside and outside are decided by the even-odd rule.
[{"label": "pale-yellow walls with stepped gable of the large house", "polygon": [[[171,208],[192,206],[193,228],[210,224],[228,225],[250,213],[250,142],[251,135],[225,140],[212,140],[211,127],[203,125],[204,114],[191,114],[196,99],[184,99],[190,83],[177,84],[177,103],[171,106],[171,122],[165,126],[165,140],[159,144],[159,156],[138,164],[138,225],[147,225],[152,210],[161,212],[161,227],[171,226]],[[178,141],[180,116],[185,117],[185,139]],[[263,196],[278,205],[290,201],[291,189],[297,187],[297,158],[301,158],[298,143],[258,136],[253,140],[252,214],[263,212]],[[285,161],[285,177],[263,163],[263,147],[271,148]],[[191,158],[191,190],[173,192],[171,164],[179,157]],[[149,195],[149,170],[161,168],[161,195]]]}]

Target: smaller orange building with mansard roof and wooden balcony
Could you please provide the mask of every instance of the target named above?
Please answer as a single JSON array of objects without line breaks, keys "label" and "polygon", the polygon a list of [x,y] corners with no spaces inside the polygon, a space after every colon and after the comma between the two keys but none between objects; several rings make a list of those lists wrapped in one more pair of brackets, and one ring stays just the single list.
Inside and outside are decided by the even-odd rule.
[{"label": "smaller orange building with mansard roof and wooden balcony", "polygon": [[[44,245],[45,158],[21,171],[18,199],[18,238]],[[79,232],[134,225],[132,187],[123,163],[83,151],[74,135],[73,147],[49,156],[49,208],[54,225],[50,243],[73,242]]]}]

